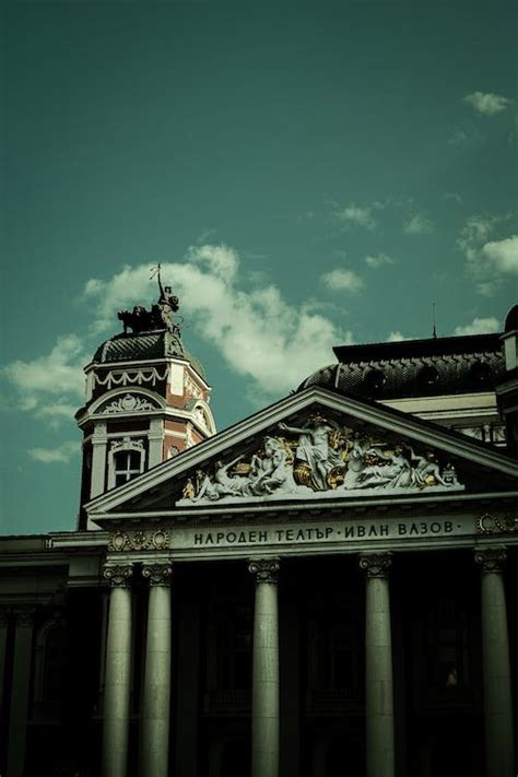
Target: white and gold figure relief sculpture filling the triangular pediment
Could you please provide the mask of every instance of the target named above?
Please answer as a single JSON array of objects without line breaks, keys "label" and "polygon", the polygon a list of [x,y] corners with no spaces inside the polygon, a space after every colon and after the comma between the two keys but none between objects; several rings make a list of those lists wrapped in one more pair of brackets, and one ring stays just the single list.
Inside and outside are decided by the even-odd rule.
[{"label": "white and gold figure relief sculpture filling the triangular pediment", "polygon": [[388,443],[319,413],[278,429],[254,454],[197,471],[179,504],[464,488],[434,452],[421,455],[408,443]]}]

